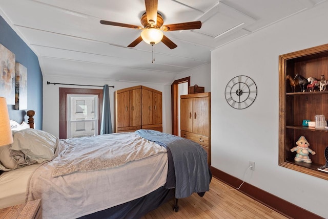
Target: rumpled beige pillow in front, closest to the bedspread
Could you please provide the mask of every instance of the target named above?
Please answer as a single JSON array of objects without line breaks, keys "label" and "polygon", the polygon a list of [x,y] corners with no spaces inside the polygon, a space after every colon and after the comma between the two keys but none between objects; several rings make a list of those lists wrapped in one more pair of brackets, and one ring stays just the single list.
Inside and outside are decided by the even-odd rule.
[{"label": "rumpled beige pillow in front, closest to the bedspread", "polygon": [[58,138],[43,130],[33,128],[19,130],[14,134],[10,148],[20,150],[30,159],[42,163],[53,158]]}]

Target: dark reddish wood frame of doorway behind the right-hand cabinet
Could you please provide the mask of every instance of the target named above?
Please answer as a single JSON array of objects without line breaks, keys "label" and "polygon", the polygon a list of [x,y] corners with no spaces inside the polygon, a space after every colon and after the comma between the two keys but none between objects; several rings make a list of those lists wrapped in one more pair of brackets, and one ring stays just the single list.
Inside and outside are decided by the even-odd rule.
[{"label": "dark reddish wood frame of doorway behind the right-hand cabinet", "polygon": [[171,105],[172,105],[172,135],[179,135],[179,87],[180,83],[188,82],[188,87],[190,86],[190,76],[181,78],[178,80],[173,81],[171,84]]}]

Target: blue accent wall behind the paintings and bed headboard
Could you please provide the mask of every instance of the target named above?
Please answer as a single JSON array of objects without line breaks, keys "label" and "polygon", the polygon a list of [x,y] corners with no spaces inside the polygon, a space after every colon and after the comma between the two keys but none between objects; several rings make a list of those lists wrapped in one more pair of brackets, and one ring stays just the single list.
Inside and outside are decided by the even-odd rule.
[{"label": "blue accent wall behind the paintings and bed headboard", "polygon": [[[16,62],[27,68],[27,107],[35,111],[35,128],[42,129],[43,112],[43,77],[39,61],[35,53],[16,34],[16,32],[0,16],[0,43],[16,56]],[[15,110],[14,105],[8,105],[9,117],[17,122],[27,122],[25,110]]]}]

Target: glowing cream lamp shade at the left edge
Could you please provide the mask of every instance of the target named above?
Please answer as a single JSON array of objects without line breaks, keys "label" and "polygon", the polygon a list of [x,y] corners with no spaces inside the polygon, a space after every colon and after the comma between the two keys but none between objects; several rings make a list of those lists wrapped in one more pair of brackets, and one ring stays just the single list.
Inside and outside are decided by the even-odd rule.
[{"label": "glowing cream lamp shade at the left edge", "polygon": [[0,146],[12,144],[9,114],[6,98],[0,97]]}]

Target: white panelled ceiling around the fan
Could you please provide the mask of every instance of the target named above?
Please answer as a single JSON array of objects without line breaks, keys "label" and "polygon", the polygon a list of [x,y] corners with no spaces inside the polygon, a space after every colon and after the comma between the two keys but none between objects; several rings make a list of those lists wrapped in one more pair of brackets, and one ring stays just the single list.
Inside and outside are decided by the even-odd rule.
[{"label": "white panelled ceiling around the fan", "polygon": [[[144,0],[0,0],[0,15],[38,56],[44,77],[171,84],[177,75],[211,62],[211,50],[325,0],[158,0],[164,24],[200,20],[201,29],[165,32],[178,47],[144,41],[140,30],[101,25],[100,19],[141,26]],[[320,6],[318,6],[320,7]]]}]

